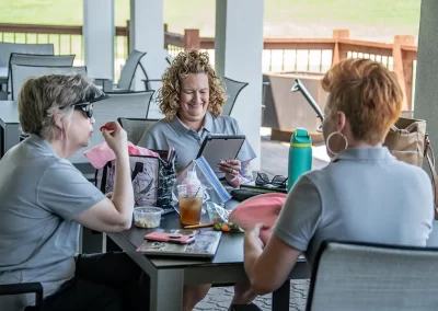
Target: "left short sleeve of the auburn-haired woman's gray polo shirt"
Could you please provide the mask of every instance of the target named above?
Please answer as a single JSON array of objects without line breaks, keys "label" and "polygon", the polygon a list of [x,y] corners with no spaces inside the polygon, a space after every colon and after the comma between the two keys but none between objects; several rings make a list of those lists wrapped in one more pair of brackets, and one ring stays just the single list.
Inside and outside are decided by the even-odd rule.
[{"label": "left short sleeve of the auburn-haired woman's gray polo shirt", "polygon": [[274,226],[274,234],[289,246],[307,251],[322,215],[321,195],[306,175],[301,176],[285,201]]}]

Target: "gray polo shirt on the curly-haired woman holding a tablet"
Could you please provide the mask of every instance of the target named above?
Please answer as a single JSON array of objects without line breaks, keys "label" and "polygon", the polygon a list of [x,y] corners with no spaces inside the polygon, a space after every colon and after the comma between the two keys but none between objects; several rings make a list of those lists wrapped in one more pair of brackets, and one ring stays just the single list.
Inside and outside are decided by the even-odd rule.
[{"label": "gray polo shirt on the curly-haired woman holding a tablet", "polygon": [[[233,117],[218,116],[215,118],[207,112],[204,126],[199,131],[184,125],[177,116],[172,122],[161,119],[145,131],[138,146],[155,150],[168,150],[172,146],[177,153],[176,171],[180,172],[193,159],[196,159],[204,139],[209,134],[242,135],[242,131]],[[245,139],[238,160],[243,162],[253,160],[255,157],[253,148]]]}]

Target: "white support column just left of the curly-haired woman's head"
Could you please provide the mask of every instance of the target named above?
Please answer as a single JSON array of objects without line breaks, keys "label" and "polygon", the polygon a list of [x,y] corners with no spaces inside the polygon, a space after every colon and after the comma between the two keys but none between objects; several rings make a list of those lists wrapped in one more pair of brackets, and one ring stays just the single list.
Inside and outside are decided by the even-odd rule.
[{"label": "white support column just left of the curly-haired woman's head", "polygon": [[[129,31],[130,50],[137,49],[146,51],[141,64],[147,70],[150,79],[160,79],[162,66],[154,66],[153,59],[158,62],[161,58],[165,61],[164,46],[164,7],[163,0],[130,0],[130,31]],[[161,62],[161,61],[160,61]],[[155,77],[159,76],[159,77]],[[145,90],[145,83],[141,81],[145,74],[140,68],[137,68],[134,80],[136,91]]]}]

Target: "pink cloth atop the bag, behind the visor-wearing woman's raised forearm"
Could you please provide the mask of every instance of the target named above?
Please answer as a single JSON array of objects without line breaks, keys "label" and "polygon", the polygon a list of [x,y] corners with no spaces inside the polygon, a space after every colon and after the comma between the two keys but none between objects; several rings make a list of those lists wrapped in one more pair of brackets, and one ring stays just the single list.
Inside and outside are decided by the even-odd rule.
[{"label": "pink cloth atop the bag, behind the visor-wearing woman's raised forearm", "polygon": [[[128,152],[129,156],[151,156],[160,158],[157,152],[135,146],[130,141],[128,141]],[[85,152],[83,152],[83,156],[85,156],[90,160],[90,163],[97,170],[102,169],[106,164],[106,162],[116,159],[116,154],[114,154],[114,151],[111,150],[106,141],[87,150]]]}]

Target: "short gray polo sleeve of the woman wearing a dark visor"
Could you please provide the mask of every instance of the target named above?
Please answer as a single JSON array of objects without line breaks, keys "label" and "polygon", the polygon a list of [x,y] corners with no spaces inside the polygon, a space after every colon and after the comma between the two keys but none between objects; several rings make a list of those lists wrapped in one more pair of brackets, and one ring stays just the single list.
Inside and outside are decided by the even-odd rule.
[{"label": "short gray polo sleeve of the woman wearing a dark visor", "polygon": [[38,205],[71,220],[105,196],[67,160],[59,160],[44,172],[37,185]]}]

